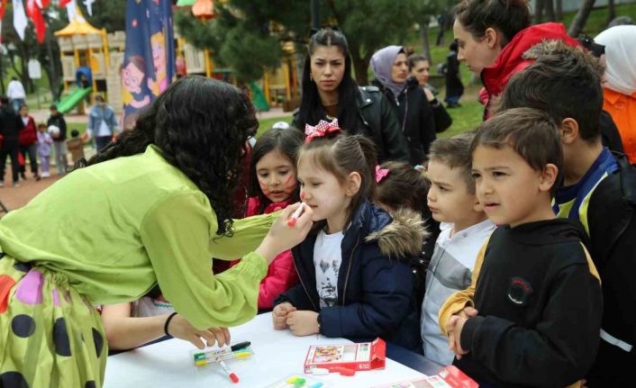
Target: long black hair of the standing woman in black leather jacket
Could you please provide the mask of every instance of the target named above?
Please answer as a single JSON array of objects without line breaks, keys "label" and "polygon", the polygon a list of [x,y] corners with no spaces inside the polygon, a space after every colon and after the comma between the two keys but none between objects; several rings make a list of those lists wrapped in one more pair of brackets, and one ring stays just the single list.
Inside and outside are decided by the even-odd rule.
[{"label": "long black hair of the standing woman in black leather jacket", "polygon": [[342,32],[330,28],[319,30],[309,40],[307,56],[304,58],[303,68],[303,98],[300,103],[297,122],[300,130],[304,131],[304,124],[315,125],[325,119],[323,104],[318,94],[318,87],[310,77],[312,71],[312,55],[320,47],[336,46],[344,55],[344,75],[338,86],[338,122],[341,128],[355,131],[358,128],[358,84],[351,77],[351,56],[349,43]]}]

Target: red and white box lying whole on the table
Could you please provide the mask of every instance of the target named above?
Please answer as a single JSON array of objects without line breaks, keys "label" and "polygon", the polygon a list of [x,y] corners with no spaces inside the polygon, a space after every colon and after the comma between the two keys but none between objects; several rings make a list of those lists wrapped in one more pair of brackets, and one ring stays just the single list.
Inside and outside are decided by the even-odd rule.
[{"label": "red and white box lying whole on the table", "polygon": [[384,369],[386,365],[386,342],[376,338],[373,342],[344,345],[312,345],[304,359],[304,373],[313,369],[329,372],[368,371]]}]

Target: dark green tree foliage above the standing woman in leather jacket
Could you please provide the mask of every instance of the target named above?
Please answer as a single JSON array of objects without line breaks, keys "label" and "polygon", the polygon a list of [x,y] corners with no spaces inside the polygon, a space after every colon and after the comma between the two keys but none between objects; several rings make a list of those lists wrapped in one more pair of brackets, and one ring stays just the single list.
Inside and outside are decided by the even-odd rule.
[{"label": "dark green tree foliage above the standing woman in leather jacket", "polygon": [[[321,2],[323,26],[337,25],[347,36],[358,82],[368,84],[373,53],[405,40],[422,9],[418,0],[332,0]],[[281,43],[294,42],[303,54],[309,38],[309,2],[229,0],[215,3],[218,16],[202,23],[187,10],[175,16],[178,32],[214,60],[229,66],[241,81],[263,75],[280,63]]]}]

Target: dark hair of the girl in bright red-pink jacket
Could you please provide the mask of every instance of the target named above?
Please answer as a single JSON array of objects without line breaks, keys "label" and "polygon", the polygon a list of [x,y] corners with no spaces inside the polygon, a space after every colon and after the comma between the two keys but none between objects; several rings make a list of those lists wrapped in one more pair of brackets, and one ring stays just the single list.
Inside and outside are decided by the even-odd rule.
[{"label": "dark hair of the girl in bright red-pink jacket", "polygon": [[[256,173],[256,164],[259,160],[266,156],[271,151],[277,151],[281,155],[289,159],[291,165],[296,167],[296,158],[298,156],[298,149],[303,145],[304,134],[301,131],[295,131],[295,129],[276,129],[271,130],[260,135],[256,145],[251,150],[250,156],[250,187],[248,194],[250,196],[256,196],[259,198],[259,214],[265,211],[268,204],[271,203],[269,198],[263,194],[260,189],[259,177]],[[300,187],[296,186],[294,193],[289,196],[291,201],[298,201]]]}]

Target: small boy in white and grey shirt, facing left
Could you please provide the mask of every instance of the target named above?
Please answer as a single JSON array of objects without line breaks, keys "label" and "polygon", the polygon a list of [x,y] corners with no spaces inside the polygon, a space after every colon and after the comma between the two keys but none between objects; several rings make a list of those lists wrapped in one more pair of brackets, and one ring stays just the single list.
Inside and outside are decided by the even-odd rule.
[{"label": "small boy in white and grey shirt, facing left", "polygon": [[426,273],[422,303],[424,356],[441,365],[450,365],[455,354],[441,335],[438,314],[452,293],[470,285],[479,248],[495,230],[486,218],[475,194],[470,171],[470,142],[473,133],[433,141],[429,153],[428,177],[431,189],[428,207],[436,221],[446,222],[435,241]]}]

